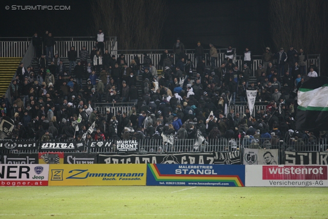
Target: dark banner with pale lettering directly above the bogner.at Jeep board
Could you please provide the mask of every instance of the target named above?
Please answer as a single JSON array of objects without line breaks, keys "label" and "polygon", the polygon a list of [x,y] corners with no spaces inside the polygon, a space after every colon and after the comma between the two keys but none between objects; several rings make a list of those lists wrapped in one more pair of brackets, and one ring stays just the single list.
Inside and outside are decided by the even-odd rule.
[{"label": "dark banner with pale lettering directly above the bogner.at Jeep board", "polygon": [[38,164],[37,153],[8,153],[0,154],[1,164]]}]

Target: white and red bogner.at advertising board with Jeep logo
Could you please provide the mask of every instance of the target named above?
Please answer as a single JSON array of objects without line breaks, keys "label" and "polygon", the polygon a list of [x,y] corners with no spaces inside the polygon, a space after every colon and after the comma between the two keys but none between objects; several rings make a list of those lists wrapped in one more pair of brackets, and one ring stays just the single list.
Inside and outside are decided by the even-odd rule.
[{"label": "white and red bogner.at advertising board with Jeep logo", "polygon": [[47,164],[1,164],[0,186],[48,186]]}]

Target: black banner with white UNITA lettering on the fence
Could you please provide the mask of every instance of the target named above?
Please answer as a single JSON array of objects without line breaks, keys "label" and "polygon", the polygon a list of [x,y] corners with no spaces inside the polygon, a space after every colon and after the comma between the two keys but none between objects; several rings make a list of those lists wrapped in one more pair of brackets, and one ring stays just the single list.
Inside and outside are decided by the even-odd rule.
[{"label": "black banner with white UNITA lettering on the fence", "polygon": [[41,152],[44,151],[84,151],[84,142],[42,142]]}]

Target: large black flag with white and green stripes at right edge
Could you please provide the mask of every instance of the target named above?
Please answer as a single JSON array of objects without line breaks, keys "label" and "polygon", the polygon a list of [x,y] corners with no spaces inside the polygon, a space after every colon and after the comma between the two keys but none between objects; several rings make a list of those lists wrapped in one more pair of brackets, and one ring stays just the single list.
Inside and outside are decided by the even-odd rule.
[{"label": "large black flag with white and green stripes at right edge", "polygon": [[311,77],[297,96],[296,130],[328,130],[328,77]]}]

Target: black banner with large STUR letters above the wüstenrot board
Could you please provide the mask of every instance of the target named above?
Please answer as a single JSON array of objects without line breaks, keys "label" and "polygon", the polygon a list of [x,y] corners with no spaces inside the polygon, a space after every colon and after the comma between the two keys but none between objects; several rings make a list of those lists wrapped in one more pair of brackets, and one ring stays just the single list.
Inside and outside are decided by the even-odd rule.
[{"label": "black banner with large STUR letters above the w\u00fcstenrot board", "polygon": [[285,164],[292,165],[328,165],[328,152],[292,152],[285,151]]}]

